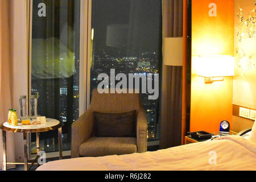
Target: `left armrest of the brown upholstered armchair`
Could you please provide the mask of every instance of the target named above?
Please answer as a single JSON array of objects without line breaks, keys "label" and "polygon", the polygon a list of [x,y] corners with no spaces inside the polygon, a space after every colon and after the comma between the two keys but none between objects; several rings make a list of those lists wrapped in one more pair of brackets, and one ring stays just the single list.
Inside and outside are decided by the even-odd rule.
[{"label": "left armrest of the brown upholstered armchair", "polygon": [[79,146],[93,134],[93,111],[87,110],[71,126],[71,158],[79,158]]}]

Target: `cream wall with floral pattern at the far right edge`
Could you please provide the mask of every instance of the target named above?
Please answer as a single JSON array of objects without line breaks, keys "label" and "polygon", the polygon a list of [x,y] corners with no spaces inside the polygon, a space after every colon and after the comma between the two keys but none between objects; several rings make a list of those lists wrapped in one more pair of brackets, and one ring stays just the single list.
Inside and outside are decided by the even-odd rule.
[{"label": "cream wall with floral pattern at the far right edge", "polygon": [[233,104],[256,109],[256,1],[234,1]]}]

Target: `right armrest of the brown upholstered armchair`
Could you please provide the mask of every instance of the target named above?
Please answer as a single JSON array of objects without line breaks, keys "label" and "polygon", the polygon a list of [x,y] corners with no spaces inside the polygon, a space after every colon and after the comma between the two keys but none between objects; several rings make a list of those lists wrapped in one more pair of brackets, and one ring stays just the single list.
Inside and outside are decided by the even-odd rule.
[{"label": "right armrest of the brown upholstered armchair", "polygon": [[147,117],[143,109],[137,113],[137,148],[139,153],[147,151]]}]

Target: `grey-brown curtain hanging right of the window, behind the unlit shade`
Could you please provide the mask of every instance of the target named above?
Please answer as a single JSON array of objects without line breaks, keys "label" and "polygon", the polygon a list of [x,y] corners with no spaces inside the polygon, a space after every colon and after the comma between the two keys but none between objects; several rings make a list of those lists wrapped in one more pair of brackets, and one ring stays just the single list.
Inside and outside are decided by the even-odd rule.
[{"label": "grey-brown curtain hanging right of the window, behind the unlit shade", "polygon": [[[163,43],[164,38],[182,37],[183,0],[162,0],[162,10]],[[163,65],[160,148],[181,144],[182,74],[182,67]]]}]

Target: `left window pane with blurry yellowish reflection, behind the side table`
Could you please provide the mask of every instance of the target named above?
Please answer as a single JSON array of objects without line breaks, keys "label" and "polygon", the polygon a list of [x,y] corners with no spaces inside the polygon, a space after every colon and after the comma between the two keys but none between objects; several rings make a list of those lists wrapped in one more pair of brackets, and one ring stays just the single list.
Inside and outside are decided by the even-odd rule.
[{"label": "left window pane with blurry yellowish reflection, behind the side table", "polygon": [[[39,115],[64,123],[63,150],[70,150],[71,124],[79,118],[80,0],[31,2],[31,94]],[[57,141],[56,131],[40,134],[41,150],[57,151]]]}]

